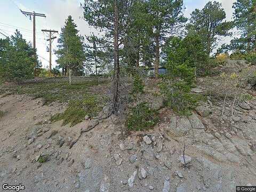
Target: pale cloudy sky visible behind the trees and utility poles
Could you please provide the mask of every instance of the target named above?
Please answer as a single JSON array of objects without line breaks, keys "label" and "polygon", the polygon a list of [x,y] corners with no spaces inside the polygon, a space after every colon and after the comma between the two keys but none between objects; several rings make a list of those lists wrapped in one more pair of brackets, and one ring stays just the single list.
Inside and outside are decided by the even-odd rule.
[{"label": "pale cloudy sky visible behind the trees and utility poles", "polygon": [[[235,0],[217,0],[222,3],[222,7],[225,9],[227,21],[230,21],[233,17],[232,5]],[[46,18],[36,17],[36,48],[39,59],[42,61],[43,67],[49,66],[49,52],[46,52],[46,47],[49,46],[49,42],[46,41],[49,36],[43,33],[42,29],[58,30],[59,34],[61,27],[65,24],[65,20],[68,15],[71,15],[77,24],[77,29],[81,35],[90,35],[93,32],[93,28],[87,25],[83,20],[83,9],[80,3],[83,0],[0,0],[0,32],[6,36],[14,34],[15,29],[21,31],[23,38],[29,42],[33,42],[33,22],[29,17],[25,17],[20,12],[28,11],[36,13],[44,13]],[[184,0],[184,6],[186,7],[184,14],[189,17],[190,13],[195,9],[202,9],[209,0]],[[55,36],[59,37],[58,34]],[[5,38],[0,34],[0,38]],[[223,39],[223,42],[228,43],[232,37]],[[57,49],[57,39],[54,39],[52,43],[52,49]],[[57,57],[52,53],[52,66],[56,65],[55,60]]]}]

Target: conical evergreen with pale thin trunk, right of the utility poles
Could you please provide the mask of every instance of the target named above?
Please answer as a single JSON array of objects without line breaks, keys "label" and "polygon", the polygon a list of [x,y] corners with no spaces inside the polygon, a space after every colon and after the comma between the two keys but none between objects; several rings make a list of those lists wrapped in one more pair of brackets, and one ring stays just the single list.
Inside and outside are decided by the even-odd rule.
[{"label": "conical evergreen with pale thin trunk, right of the utility poles", "polygon": [[57,63],[62,69],[69,69],[69,83],[71,83],[71,70],[74,75],[83,70],[85,54],[83,49],[82,37],[78,35],[77,25],[71,15],[65,21],[65,26],[61,28],[60,38],[58,39]]}]

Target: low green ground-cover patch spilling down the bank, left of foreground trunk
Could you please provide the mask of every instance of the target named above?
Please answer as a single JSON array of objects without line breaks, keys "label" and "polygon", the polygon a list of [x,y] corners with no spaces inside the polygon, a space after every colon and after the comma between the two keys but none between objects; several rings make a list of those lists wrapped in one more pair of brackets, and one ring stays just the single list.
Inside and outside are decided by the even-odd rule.
[{"label": "low green ground-cover patch spilling down the bank, left of foreground trunk", "polygon": [[99,113],[103,108],[103,98],[99,95],[84,95],[82,100],[71,100],[67,109],[63,113],[55,114],[51,122],[63,119],[62,125],[74,126],[81,123],[86,115],[92,117]]}]

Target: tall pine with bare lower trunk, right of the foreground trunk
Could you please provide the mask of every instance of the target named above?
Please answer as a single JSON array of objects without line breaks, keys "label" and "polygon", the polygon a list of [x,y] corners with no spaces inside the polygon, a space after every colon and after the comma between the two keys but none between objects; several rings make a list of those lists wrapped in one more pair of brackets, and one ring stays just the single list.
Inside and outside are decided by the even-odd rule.
[{"label": "tall pine with bare lower trunk, right of the foreground trunk", "polygon": [[177,34],[187,21],[182,13],[183,0],[149,0],[148,11],[151,17],[155,39],[155,77],[158,76],[160,49],[167,36]]}]

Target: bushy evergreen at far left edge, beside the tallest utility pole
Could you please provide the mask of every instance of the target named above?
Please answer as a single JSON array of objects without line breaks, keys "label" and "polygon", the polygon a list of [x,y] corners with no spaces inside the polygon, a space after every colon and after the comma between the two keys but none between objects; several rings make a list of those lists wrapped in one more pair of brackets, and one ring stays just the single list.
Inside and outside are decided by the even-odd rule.
[{"label": "bushy evergreen at far left edge, beside the tallest utility pole", "polygon": [[0,76],[4,81],[20,83],[34,77],[36,52],[18,30],[10,39],[0,39],[0,45]]}]

